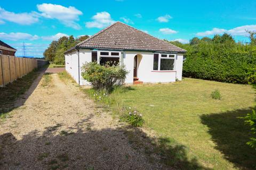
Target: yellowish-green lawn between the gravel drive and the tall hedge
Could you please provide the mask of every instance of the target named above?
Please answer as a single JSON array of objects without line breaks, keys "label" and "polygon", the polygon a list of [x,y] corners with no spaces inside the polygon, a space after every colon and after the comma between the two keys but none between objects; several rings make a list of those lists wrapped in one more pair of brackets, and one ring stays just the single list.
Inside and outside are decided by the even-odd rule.
[{"label": "yellowish-green lawn between the gravel drive and the tall hedge", "polygon": [[[136,107],[145,126],[169,139],[169,145],[184,145],[191,162],[210,169],[256,168],[256,151],[245,144],[249,127],[238,118],[255,105],[251,86],[185,78],[127,89],[114,91],[110,98]],[[221,100],[210,97],[215,89]]]}]

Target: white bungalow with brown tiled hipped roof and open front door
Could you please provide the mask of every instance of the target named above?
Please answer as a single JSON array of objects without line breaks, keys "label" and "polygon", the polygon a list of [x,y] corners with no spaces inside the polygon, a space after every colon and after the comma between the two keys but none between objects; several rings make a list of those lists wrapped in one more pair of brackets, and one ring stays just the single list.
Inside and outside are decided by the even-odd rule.
[{"label": "white bungalow with brown tiled hipped roof and open front door", "polygon": [[182,78],[185,52],[118,21],[67,50],[66,71],[78,84],[89,85],[81,77],[84,63],[116,61],[129,71],[125,79],[127,84],[174,82]]}]

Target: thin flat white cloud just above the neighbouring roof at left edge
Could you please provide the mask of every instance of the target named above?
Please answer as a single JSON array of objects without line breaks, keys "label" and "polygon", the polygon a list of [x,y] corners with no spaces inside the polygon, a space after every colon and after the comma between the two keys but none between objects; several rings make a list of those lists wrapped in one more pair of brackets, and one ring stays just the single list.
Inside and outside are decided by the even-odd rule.
[{"label": "thin flat white cloud just above the neighbouring roof at left edge", "polygon": [[18,41],[18,40],[36,40],[39,37],[37,35],[31,35],[29,33],[23,32],[11,32],[11,33],[4,33],[0,32],[0,39],[6,39],[11,41]]}]

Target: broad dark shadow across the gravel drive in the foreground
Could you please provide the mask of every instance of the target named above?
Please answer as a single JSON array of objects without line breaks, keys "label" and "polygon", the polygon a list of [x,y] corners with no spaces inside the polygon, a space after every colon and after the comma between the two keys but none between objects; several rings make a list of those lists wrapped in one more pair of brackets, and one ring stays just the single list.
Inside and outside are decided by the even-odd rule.
[{"label": "broad dark shadow across the gravel drive in the foreground", "polygon": [[69,128],[56,124],[31,131],[20,140],[2,134],[0,169],[207,169],[169,139],[150,138],[130,126],[92,129],[90,118]]}]

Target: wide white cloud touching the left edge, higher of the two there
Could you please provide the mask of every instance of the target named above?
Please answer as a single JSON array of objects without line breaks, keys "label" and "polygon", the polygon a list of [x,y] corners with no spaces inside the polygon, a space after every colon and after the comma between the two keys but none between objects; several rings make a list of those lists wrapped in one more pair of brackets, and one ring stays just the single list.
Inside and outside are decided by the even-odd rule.
[{"label": "wide white cloud touching the left edge, higher of the two there", "polygon": [[0,24],[5,23],[4,21],[14,22],[21,25],[30,25],[38,22],[39,15],[36,12],[31,13],[14,13],[4,10],[0,7]]}]

